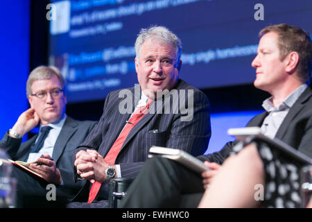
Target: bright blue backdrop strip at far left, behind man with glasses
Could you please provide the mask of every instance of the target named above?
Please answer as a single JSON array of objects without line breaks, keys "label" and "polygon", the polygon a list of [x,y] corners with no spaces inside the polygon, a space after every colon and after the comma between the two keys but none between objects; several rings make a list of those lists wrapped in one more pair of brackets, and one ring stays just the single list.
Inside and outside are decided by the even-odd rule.
[{"label": "bright blue backdrop strip at far left, behind man with glasses", "polygon": [[30,1],[7,1],[0,7],[0,137],[28,108]]}]

